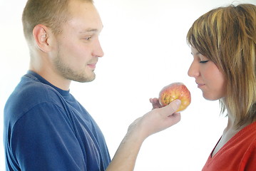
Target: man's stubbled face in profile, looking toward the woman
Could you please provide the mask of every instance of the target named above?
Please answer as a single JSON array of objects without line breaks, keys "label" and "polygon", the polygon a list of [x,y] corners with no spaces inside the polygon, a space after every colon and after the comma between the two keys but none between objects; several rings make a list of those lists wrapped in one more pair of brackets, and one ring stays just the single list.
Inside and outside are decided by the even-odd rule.
[{"label": "man's stubbled face in profile, looking toward the woman", "polygon": [[71,1],[71,19],[62,26],[56,37],[56,46],[51,60],[56,72],[62,78],[88,82],[93,81],[98,57],[103,50],[98,40],[103,28],[101,18],[93,4]]}]

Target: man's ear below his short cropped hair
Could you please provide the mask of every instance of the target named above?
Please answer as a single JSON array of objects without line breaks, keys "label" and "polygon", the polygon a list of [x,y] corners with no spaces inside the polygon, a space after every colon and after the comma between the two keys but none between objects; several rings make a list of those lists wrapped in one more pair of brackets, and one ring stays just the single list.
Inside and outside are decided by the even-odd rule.
[{"label": "man's ear below his short cropped hair", "polygon": [[36,45],[41,49],[41,51],[48,52],[50,50],[50,46],[48,44],[48,36],[49,30],[46,26],[42,24],[38,24],[33,29],[34,40],[36,41]]}]

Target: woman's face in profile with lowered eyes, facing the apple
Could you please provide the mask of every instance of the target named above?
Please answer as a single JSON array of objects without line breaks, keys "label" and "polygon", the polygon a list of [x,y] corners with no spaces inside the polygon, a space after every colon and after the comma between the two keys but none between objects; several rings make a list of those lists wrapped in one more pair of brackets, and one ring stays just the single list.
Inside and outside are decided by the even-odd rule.
[{"label": "woman's face in profile with lowered eyes, facing the apple", "polygon": [[191,46],[193,62],[188,70],[188,76],[195,78],[207,100],[218,100],[225,97],[225,78],[213,61],[203,56],[197,49]]}]

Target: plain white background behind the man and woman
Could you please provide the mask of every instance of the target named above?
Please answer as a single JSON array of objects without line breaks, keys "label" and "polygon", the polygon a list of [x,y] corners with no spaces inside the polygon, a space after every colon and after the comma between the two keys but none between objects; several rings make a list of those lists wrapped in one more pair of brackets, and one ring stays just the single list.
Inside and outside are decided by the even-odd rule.
[{"label": "plain white background behind the man and woman", "polygon": [[[201,170],[222,130],[218,101],[207,101],[187,75],[192,62],[186,34],[195,19],[217,6],[255,0],[95,0],[103,20],[105,56],[96,80],[72,83],[71,93],[100,125],[111,157],[135,118],[151,109],[149,98],[163,86],[183,82],[192,103],[172,128],[150,136],[135,170]],[[0,0],[0,170],[4,169],[4,103],[29,64],[21,13],[25,0]]]}]

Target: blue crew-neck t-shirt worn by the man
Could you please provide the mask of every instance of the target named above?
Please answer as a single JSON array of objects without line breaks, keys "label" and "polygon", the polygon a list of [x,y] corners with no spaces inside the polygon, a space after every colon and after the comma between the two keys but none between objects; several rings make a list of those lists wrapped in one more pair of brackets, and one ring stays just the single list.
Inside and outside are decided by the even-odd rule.
[{"label": "blue crew-neck t-shirt worn by the man", "polygon": [[69,91],[28,71],[4,108],[6,170],[99,171],[111,162],[103,134]]}]

